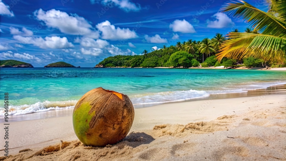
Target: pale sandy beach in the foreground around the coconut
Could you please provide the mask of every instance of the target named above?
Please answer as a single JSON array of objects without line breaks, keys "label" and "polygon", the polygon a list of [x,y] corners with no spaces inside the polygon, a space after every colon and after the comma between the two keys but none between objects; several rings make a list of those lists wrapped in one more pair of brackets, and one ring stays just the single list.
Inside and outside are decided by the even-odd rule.
[{"label": "pale sandy beach in the foreground around the coconut", "polygon": [[106,147],[83,146],[72,116],[13,122],[11,156],[5,160],[286,160],[285,98],[271,94],[135,109],[128,136]]}]

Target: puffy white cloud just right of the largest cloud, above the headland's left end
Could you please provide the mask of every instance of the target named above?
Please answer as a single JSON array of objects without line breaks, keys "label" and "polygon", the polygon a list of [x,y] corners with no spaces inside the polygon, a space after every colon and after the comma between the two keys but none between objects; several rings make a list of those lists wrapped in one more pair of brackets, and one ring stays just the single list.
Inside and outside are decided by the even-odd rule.
[{"label": "puffy white cloud just right of the largest cloud, above the headland's left end", "polygon": [[115,28],[114,25],[111,25],[109,21],[104,21],[98,23],[96,25],[99,31],[102,32],[101,38],[108,39],[108,40],[119,40],[119,39],[133,39],[138,37],[135,31],[131,31],[129,28],[122,28],[119,27]]}]

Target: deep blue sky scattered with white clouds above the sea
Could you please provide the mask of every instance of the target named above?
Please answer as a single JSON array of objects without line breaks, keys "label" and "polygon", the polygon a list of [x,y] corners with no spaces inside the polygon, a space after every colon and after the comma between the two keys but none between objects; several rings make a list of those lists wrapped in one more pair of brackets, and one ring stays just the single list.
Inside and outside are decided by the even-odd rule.
[{"label": "deep blue sky scattered with white clouds above the sea", "polygon": [[[114,55],[212,38],[248,25],[224,0],[0,0],[0,59],[94,67]],[[247,1],[267,11],[264,1]]]}]

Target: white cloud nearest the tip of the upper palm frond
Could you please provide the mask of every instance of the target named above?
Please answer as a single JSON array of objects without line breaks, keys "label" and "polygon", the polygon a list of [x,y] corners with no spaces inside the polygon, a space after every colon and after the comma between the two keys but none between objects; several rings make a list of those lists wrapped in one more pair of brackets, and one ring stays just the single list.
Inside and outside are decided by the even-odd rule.
[{"label": "white cloud nearest the tip of the upper palm frond", "polygon": [[214,14],[212,17],[214,17],[216,20],[207,21],[208,25],[206,27],[221,29],[224,27],[230,27],[234,25],[234,22],[225,13],[218,12]]}]

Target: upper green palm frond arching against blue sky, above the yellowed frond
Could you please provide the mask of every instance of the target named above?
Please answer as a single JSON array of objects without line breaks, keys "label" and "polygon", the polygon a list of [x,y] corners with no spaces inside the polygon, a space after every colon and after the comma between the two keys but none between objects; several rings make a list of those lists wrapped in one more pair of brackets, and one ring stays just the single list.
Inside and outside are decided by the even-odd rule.
[{"label": "upper green palm frond arching against blue sky, above the yellowed frond", "polygon": [[221,8],[221,11],[227,12],[234,17],[244,19],[246,23],[252,25],[255,30],[262,34],[286,37],[285,21],[270,13],[257,9],[245,1],[237,0],[225,3]]}]

